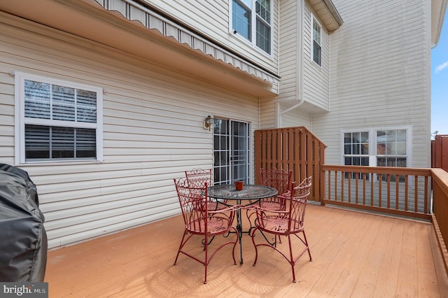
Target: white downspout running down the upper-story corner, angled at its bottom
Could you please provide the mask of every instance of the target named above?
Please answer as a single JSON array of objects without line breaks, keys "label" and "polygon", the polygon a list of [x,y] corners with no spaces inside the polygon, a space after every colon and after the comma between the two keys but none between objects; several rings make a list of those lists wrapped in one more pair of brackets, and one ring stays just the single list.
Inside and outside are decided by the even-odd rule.
[{"label": "white downspout running down the upper-story corner, angled at its bottom", "polygon": [[[279,121],[278,121],[278,127],[282,127],[282,118],[283,115],[285,115],[286,113],[288,113],[289,111],[293,111],[295,108],[298,108],[299,106],[302,106],[302,104],[304,103],[304,99],[303,99],[303,45],[304,45],[304,33],[303,33],[303,28],[304,28],[304,0],[300,1],[300,11],[297,11],[297,15],[300,15],[300,22],[298,23],[298,27],[297,27],[297,31],[298,34],[297,36],[301,36],[302,38],[297,38],[297,55],[296,55],[296,65],[298,66],[298,73],[297,73],[297,79],[296,79],[296,99],[298,99],[297,104],[295,104],[294,106],[291,106],[290,108],[287,108],[285,111],[281,111],[280,112],[280,101],[277,101],[277,111],[279,111]],[[298,88],[298,92],[297,92],[297,88]]]}]

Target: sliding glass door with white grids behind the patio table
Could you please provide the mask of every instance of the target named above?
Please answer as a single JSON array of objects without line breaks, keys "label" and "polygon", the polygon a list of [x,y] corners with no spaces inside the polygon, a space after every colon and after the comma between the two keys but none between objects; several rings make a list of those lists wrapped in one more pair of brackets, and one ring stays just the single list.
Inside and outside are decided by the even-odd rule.
[{"label": "sliding glass door with white grids behind the patio table", "polygon": [[214,183],[250,181],[250,126],[247,122],[214,118]]}]

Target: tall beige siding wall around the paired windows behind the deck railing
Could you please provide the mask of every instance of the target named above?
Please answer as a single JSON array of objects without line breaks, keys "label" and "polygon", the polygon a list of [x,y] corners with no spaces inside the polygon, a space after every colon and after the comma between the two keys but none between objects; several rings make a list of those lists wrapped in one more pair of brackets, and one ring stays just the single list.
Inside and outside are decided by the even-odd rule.
[{"label": "tall beige siding wall around the paired windows behind the deck railing", "polygon": [[344,129],[411,129],[407,166],[430,166],[430,3],[333,1],[344,24],[331,34],[330,113],[313,115],[341,164]]}]

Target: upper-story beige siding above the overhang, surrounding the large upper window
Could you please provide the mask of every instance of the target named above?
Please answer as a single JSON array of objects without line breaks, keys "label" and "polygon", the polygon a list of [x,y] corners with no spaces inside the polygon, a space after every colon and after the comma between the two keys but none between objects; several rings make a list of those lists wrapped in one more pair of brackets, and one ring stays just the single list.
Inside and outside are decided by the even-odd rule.
[{"label": "upper-story beige siding above the overhang, surrounding the large upper window", "polygon": [[279,2],[272,0],[272,55],[253,47],[244,38],[230,32],[229,9],[232,0],[221,1],[184,1],[184,0],[144,0],[151,6],[162,10],[180,20],[188,27],[192,27],[205,36],[225,45],[246,59],[262,66],[273,73],[279,73],[279,44],[277,31],[279,30]]}]

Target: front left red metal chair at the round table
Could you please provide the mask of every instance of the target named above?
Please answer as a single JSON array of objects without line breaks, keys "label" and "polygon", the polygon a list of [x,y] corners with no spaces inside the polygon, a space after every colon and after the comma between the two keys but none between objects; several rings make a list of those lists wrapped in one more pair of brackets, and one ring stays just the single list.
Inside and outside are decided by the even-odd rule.
[{"label": "front left red metal chair at the round table", "polygon": [[[182,209],[183,222],[185,223],[185,231],[183,232],[183,237],[174,264],[176,264],[179,254],[181,253],[200,262],[205,267],[204,283],[207,283],[207,267],[218,250],[221,250],[224,246],[229,244],[233,245],[233,262],[235,265],[237,264],[237,261],[235,260],[235,246],[239,241],[239,234],[237,229],[232,226],[232,222],[235,219],[235,211],[237,211],[239,206],[232,206],[218,211],[210,211],[209,208],[207,208],[207,182],[201,186],[188,185],[188,180],[186,178],[181,178],[177,181],[174,179],[174,185],[176,185],[176,191]],[[231,230],[235,232],[236,240],[221,243],[218,248],[214,249],[211,255],[209,255],[210,240],[218,235],[223,235],[225,236],[225,239],[228,239]],[[186,251],[186,243],[195,235],[203,237],[202,244],[204,245],[204,257]]]}]

